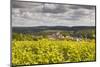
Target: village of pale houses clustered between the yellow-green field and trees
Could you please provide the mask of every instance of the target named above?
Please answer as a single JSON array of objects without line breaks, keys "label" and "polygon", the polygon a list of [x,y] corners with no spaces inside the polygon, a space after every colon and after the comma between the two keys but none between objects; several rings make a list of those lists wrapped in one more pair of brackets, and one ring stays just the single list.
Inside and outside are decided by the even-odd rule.
[{"label": "village of pale houses clustered between the yellow-green field and trees", "polygon": [[[82,40],[82,37],[72,37],[72,36],[68,36],[68,35],[66,35],[66,36],[64,36],[64,35],[62,35],[61,34],[61,32],[54,32],[54,33],[52,33],[52,34],[49,34],[49,35],[45,35],[46,36],[46,38],[48,38],[49,40],[72,40],[72,41],[81,41]],[[44,38],[42,35],[40,35],[40,36],[32,36],[33,38],[37,38],[37,39],[42,39],[42,38]],[[37,39],[35,39],[35,40],[37,40]]]}]

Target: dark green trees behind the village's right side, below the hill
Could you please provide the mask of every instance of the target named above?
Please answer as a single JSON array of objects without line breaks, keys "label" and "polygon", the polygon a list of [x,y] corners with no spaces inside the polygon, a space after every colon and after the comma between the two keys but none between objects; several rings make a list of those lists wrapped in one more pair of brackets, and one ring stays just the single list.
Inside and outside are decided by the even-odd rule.
[{"label": "dark green trees behind the village's right side, below the hill", "polygon": [[69,31],[69,32],[62,32],[64,36],[71,36],[71,37],[78,37],[78,38],[87,38],[87,39],[94,39],[95,38],[95,30],[83,30],[83,31]]}]

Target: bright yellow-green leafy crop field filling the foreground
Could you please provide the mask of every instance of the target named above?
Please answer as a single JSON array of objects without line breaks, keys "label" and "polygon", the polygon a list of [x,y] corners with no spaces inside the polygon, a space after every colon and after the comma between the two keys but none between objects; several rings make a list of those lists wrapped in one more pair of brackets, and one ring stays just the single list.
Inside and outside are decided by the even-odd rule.
[{"label": "bright yellow-green leafy crop field filling the foreground", "polygon": [[34,65],[95,61],[95,40],[12,41],[12,64]]}]

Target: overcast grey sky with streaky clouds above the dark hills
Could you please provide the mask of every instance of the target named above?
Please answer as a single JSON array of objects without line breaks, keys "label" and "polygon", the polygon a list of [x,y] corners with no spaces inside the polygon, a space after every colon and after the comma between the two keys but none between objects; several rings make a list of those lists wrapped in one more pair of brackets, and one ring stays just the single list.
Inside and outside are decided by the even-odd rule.
[{"label": "overcast grey sky with streaky clouds above the dark hills", "polygon": [[95,7],[14,0],[12,26],[95,26]]}]

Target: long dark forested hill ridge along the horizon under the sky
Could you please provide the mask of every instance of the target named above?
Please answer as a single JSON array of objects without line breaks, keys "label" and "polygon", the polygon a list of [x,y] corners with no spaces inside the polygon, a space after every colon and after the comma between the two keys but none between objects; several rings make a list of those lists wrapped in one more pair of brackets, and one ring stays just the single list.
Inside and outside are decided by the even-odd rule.
[{"label": "long dark forested hill ridge along the horizon under the sky", "polygon": [[37,27],[12,27],[12,32],[43,32],[43,31],[80,31],[80,30],[95,30],[95,26],[37,26]]}]

